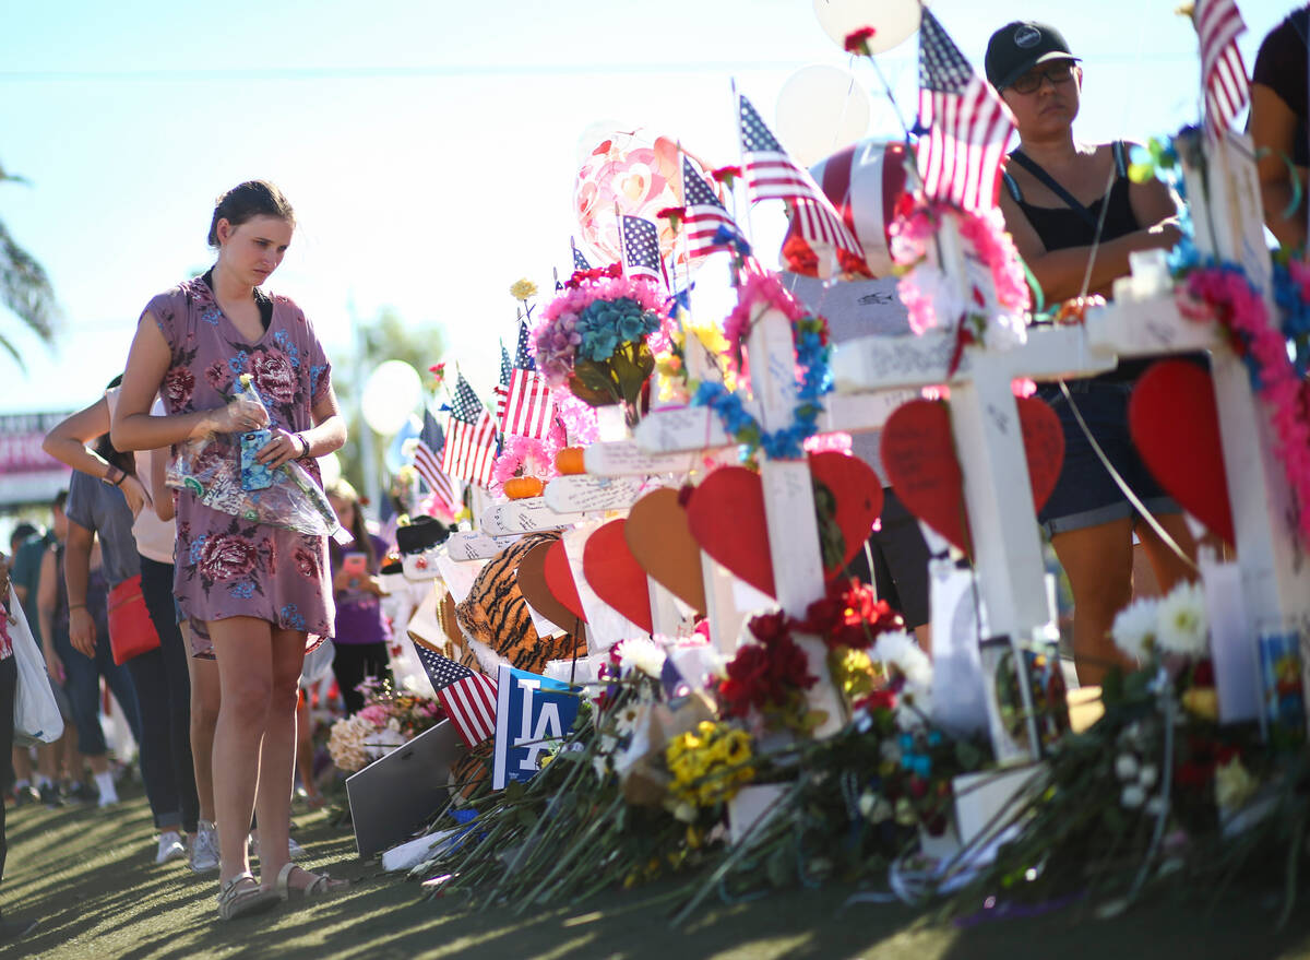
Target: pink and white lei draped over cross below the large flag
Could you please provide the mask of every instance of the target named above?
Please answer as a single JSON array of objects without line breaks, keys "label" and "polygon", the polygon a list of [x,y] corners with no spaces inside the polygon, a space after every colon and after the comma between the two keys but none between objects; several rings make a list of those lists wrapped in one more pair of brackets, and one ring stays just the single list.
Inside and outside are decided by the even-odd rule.
[{"label": "pink and white lei draped over cross below the large flag", "polygon": [[[1027,311],[1032,303],[1027,277],[998,209],[975,214],[947,203],[917,203],[908,214],[897,216],[888,228],[892,261],[903,271],[896,290],[909,311],[909,324],[914,333],[922,334],[942,323],[933,307],[931,294],[942,282],[942,269],[927,260],[927,252],[941,230],[943,216],[955,218],[960,239],[988,268],[996,286],[997,306],[1013,313]],[[921,270],[929,273],[920,273]]]}]

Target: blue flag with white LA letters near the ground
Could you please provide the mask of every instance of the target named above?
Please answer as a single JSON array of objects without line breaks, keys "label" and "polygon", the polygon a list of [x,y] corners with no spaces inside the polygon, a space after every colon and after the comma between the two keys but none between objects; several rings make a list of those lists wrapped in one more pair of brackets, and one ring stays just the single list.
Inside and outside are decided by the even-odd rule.
[{"label": "blue flag with white LA letters near the ground", "polygon": [[541,754],[557,749],[572,729],[580,703],[580,687],[502,664],[496,674],[491,790],[504,790],[510,780],[531,780]]}]

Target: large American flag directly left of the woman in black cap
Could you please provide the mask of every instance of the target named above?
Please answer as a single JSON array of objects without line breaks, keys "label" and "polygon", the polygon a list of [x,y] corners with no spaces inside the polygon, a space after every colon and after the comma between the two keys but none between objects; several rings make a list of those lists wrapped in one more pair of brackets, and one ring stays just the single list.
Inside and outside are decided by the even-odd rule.
[{"label": "large American flag directly left of the woman in black cap", "polygon": [[996,206],[1010,108],[926,8],[918,34],[918,176],[924,195],[969,211]]}]

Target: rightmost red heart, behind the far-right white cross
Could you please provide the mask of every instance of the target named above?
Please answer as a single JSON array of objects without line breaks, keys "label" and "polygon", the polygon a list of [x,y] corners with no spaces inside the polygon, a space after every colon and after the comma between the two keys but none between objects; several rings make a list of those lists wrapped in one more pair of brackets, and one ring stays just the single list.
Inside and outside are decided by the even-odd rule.
[{"label": "rightmost red heart, behind the far-right white cross", "polygon": [[1153,363],[1133,387],[1128,430],[1169,496],[1233,544],[1233,505],[1210,375],[1187,361]]}]

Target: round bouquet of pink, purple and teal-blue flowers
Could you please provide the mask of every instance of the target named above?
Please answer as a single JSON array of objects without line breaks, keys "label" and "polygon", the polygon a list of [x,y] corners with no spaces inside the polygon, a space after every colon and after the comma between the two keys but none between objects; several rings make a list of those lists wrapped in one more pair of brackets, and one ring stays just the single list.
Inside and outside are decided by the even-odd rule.
[{"label": "round bouquet of pink, purple and teal-blue flowers", "polygon": [[537,369],[550,386],[567,384],[591,407],[621,404],[635,422],[654,350],[667,338],[665,316],[663,298],[646,279],[617,269],[575,273],[533,332]]}]

